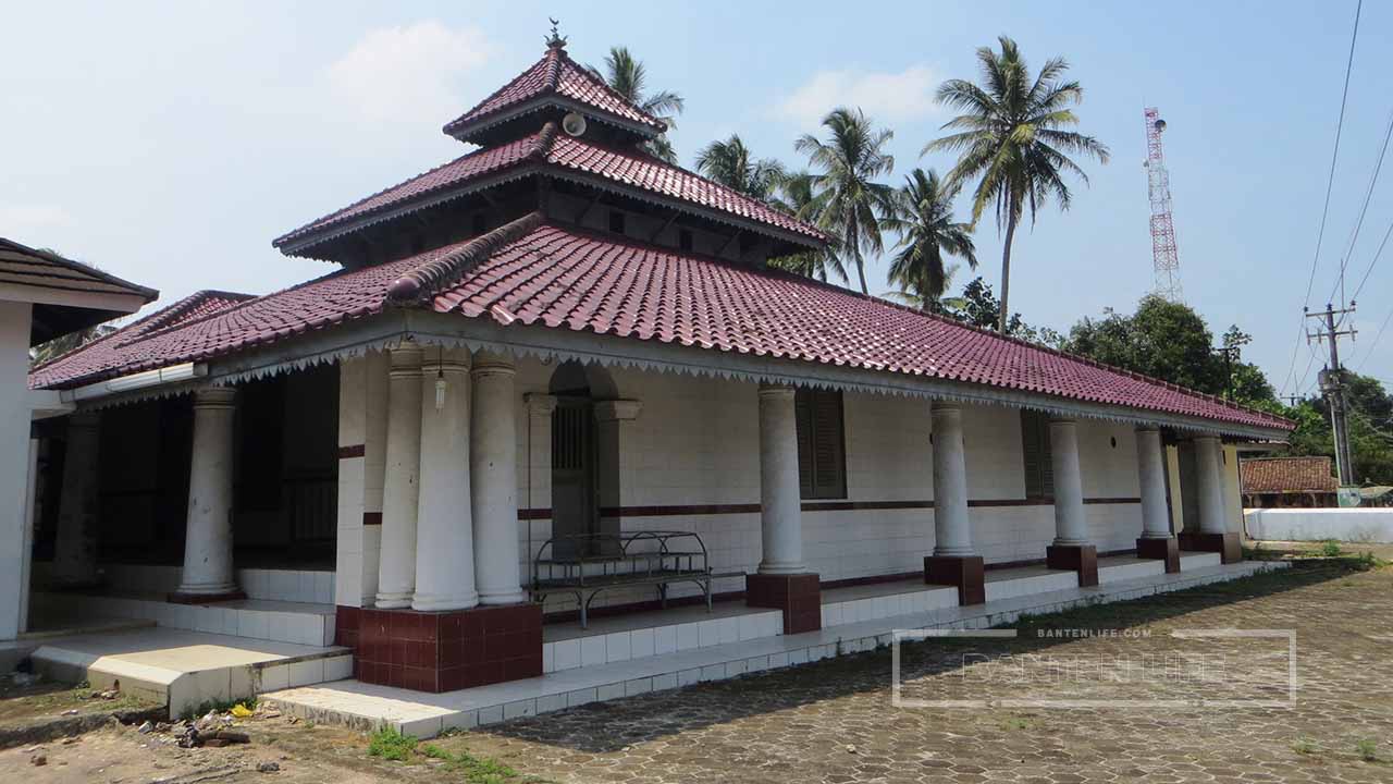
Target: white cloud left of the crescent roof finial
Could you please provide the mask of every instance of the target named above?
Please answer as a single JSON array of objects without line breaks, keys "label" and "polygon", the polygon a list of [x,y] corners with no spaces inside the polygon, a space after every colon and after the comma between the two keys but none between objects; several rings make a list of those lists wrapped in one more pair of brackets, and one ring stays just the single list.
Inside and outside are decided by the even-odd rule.
[{"label": "white cloud left of the crescent roof finial", "polygon": [[326,75],[332,93],[368,120],[444,124],[468,109],[467,77],[490,53],[478,28],[425,21],[368,32]]}]

